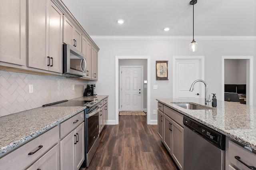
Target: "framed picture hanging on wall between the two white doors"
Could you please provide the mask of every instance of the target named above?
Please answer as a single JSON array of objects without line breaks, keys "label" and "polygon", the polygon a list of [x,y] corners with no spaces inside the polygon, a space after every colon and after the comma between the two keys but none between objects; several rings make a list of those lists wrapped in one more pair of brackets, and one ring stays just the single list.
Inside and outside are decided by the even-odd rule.
[{"label": "framed picture hanging on wall between the two white doors", "polygon": [[168,80],[168,61],[156,61],[156,80]]}]

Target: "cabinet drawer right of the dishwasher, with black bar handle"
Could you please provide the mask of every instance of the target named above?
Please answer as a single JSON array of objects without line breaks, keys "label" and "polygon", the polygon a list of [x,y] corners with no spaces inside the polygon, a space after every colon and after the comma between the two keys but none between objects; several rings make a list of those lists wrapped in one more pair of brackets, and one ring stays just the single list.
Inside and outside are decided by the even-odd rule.
[{"label": "cabinet drawer right of the dishwasher, with black bar handle", "polygon": [[250,152],[249,150],[243,148],[242,146],[232,142],[231,140],[228,141],[228,158],[230,163],[236,166],[239,169],[249,169],[247,168],[242,162],[237,160],[235,156],[239,156],[240,160],[249,166],[256,167],[256,154]]}]

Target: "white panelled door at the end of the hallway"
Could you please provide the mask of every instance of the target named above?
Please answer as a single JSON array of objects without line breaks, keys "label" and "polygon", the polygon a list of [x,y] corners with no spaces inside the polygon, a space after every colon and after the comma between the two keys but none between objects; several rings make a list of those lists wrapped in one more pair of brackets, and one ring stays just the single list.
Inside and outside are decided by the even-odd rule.
[{"label": "white panelled door at the end of the hallway", "polygon": [[121,111],[142,111],[142,68],[121,67]]}]

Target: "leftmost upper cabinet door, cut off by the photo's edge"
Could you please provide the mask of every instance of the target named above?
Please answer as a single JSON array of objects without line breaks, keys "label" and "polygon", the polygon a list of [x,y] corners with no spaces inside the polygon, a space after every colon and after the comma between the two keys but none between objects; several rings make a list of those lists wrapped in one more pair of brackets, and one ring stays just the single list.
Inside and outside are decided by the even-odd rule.
[{"label": "leftmost upper cabinet door, cut off by the photo's edge", "polygon": [[0,61],[26,65],[26,0],[1,0]]}]

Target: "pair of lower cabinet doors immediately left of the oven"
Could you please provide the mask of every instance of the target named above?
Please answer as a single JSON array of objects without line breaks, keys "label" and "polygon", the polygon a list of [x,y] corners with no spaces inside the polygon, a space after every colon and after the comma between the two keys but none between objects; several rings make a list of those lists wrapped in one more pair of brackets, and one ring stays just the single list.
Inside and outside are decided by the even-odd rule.
[{"label": "pair of lower cabinet doors immediately left of the oven", "polygon": [[60,169],[79,170],[84,156],[84,123],[82,123],[60,140]]}]

